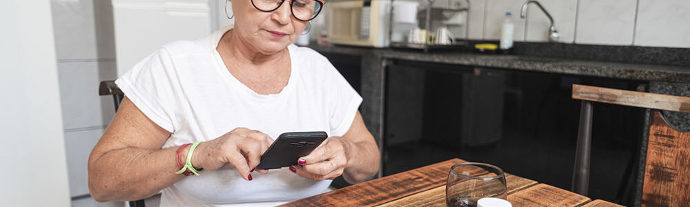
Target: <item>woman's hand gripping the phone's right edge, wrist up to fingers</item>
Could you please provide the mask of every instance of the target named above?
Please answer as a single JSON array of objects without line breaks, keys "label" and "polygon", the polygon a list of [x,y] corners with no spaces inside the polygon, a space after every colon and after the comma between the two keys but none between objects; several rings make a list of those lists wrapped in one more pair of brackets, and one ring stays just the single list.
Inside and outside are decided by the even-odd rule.
[{"label": "woman's hand gripping the phone's right edge, wrist up to fingers", "polygon": [[343,137],[328,137],[309,155],[299,158],[290,170],[301,177],[321,181],[335,179],[343,174],[348,164],[351,144]]}]

